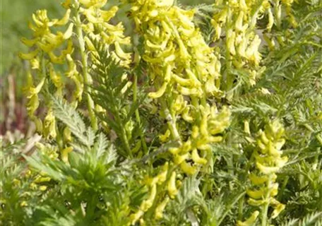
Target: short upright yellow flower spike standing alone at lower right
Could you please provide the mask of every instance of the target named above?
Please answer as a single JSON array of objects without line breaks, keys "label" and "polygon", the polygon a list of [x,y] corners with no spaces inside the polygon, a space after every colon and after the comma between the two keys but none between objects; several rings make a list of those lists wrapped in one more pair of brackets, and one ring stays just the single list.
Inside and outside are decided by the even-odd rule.
[{"label": "short upright yellow flower spike standing alone at lower right", "polygon": [[[249,174],[254,188],[246,191],[249,196],[249,205],[266,206],[267,208],[268,205],[273,206],[271,218],[277,218],[280,212],[285,209],[285,205],[274,198],[278,194],[276,172],[287,162],[287,157],[282,157],[281,148],[285,143],[282,136],[284,136],[284,128],[277,120],[268,124],[265,131],[260,131],[257,139],[258,150],[253,153],[257,173],[251,172]],[[239,225],[242,224],[239,223]]]}]

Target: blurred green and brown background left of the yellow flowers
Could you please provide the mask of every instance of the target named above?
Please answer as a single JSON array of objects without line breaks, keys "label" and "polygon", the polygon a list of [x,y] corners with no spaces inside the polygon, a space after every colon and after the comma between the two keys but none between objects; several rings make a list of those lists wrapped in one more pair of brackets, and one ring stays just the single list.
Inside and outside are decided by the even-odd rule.
[{"label": "blurred green and brown background left of the yellow flowers", "polygon": [[[62,1],[62,0],[61,0]],[[46,8],[49,18],[59,18],[64,10],[59,0],[1,0],[1,107],[0,134],[6,131],[32,133],[32,124],[28,122],[23,97],[24,78],[27,66],[17,57],[18,52],[27,52],[20,42],[21,37],[31,37],[28,21],[37,9]],[[211,3],[213,0],[181,0],[183,5]],[[117,0],[108,1],[108,6]],[[126,13],[120,12],[118,20],[124,20]]]}]

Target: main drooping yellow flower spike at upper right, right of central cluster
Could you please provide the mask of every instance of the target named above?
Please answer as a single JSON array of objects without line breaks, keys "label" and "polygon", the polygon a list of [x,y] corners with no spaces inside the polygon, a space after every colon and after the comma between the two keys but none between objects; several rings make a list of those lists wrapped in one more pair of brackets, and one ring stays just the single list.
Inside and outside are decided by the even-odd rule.
[{"label": "main drooping yellow flower spike at upper right, right of central cluster", "polygon": [[217,6],[223,5],[224,8],[215,13],[211,21],[215,28],[214,40],[219,40],[222,33],[226,37],[227,64],[231,64],[229,62],[232,61],[237,69],[247,69],[251,85],[256,83],[256,77],[259,76],[261,61],[261,54],[258,52],[261,39],[255,32],[256,20],[265,11],[269,16],[272,15],[270,3],[267,0],[261,2],[256,8],[254,6],[258,1],[216,1]]}]

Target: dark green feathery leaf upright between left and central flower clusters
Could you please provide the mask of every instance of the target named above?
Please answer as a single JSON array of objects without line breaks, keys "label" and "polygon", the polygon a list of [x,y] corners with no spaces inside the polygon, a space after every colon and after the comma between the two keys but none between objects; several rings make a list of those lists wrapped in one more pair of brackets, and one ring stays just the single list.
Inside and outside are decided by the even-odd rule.
[{"label": "dark green feathery leaf upright between left and central flower clusters", "polygon": [[121,148],[121,155],[131,156],[131,149],[136,145],[141,124],[136,124],[135,114],[138,106],[143,102],[142,93],[135,94],[133,99],[133,82],[129,77],[129,71],[117,64],[117,61],[109,54],[104,44],[93,40],[97,55],[93,56],[93,100],[96,105],[104,109],[97,111],[97,116],[117,133],[117,139]]}]

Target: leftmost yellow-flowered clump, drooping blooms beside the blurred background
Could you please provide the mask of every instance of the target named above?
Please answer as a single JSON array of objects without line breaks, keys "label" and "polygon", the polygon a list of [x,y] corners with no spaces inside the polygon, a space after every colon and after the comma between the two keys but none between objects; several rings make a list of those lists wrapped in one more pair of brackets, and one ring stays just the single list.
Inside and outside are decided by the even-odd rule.
[{"label": "leftmost yellow-flowered clump, drooping blooms beside the blurred background", "polygon": [[[113,46],[115,51],[111,52],[111,55],[114,60],[121,66],[129,66],[131,55],[126,54],[121,45],[129,45],[130,38],[124,36],[121,23],[109,23],[118,8],[114,6],[105,11],[102,8],[106,4],[107,1],[66,0],[62,4],[66,12],[61,19],[50,19],[46,10],[32,14],[32,23],[29,24],[32,38],[21,39],[30,47],[30,52],[20,53],[19,56],[30,62],[30,73],[25,86],[28,114],[35,121],[37,131],[47,138],[56,138],[58,133],[51,103],[45,101],[47,97],[43,98],[44,100],[40,98],[42,91],[48,90],[51,84],[55,88],[54,95],[68,100],[74,107],[77,107],[78,102],[85,96],[92,127],[94,130],[98,128],[95,105],[90,97],[90,85],[93,81],[88,65],[88,53],[92,56],[97,54],[91,40],[104,42],[107,48]],[[81,55],[81,68],[77,65],[77,53]],[[92,57],[92,60],[94,61],[95,57]],[[66,85],[71,81],[74,88],[70,91]],[[71,95],[72,97],[69,97]],[[48,107],[43,120],[37,117],[36,113],[42,103]],[[66,133],[65,129],[63,136],[66,134],[68,135],[68,131]],[[62,148],[61,151],[66,148]]]}]

